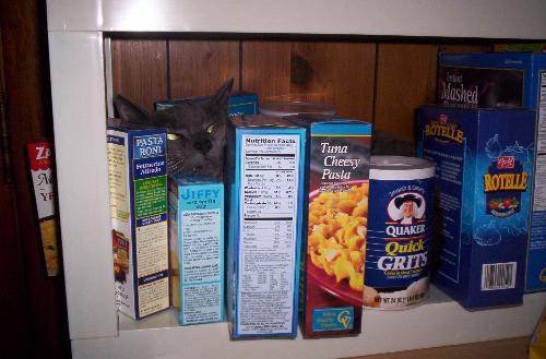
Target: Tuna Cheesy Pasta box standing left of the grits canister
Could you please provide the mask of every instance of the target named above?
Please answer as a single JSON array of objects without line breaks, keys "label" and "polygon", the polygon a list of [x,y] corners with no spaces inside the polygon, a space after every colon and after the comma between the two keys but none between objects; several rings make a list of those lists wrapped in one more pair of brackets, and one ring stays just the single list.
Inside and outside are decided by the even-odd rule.
[{"label": "Tuna Cheesy Pasta box standing left of the grits canister", "polygon": [[371,124],[289,118],[308,127],[308,201],[301,249],[305,337],[360,333]]}]

